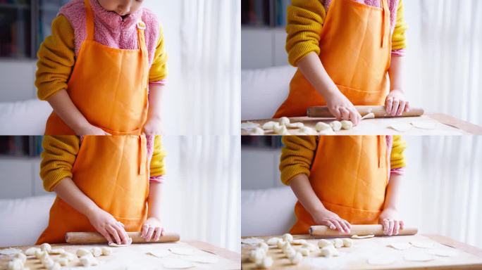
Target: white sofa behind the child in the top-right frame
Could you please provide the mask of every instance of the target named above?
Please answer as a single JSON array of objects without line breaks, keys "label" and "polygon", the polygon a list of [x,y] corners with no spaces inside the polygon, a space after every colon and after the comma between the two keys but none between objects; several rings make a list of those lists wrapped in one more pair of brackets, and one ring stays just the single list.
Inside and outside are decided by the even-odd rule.
[{"label": "white sofa behind the child in the top-right frame", "polygon": [[241,71],[241,119],[271,118],[288,97],[296,68],[290,65]]}]

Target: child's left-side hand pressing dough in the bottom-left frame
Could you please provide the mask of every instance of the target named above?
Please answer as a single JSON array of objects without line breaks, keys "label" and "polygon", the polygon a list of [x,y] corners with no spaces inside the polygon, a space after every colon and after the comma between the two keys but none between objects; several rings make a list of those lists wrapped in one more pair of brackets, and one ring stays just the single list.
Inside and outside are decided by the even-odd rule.
[{"label": "child's left-side hand pressing dough in the bottom-left frame", "polygon": [[109,243],[113,243],[113,240],[115,240],[115,243],[118,245],[128,244],[129,236],[125,232],[124,224],[114,219],[114,217],[108,212],[98,208],[89,213],[87,218],[89,219],[90,224],[92,224],[92,226],[94,226],[94,228],[104,236]]}]

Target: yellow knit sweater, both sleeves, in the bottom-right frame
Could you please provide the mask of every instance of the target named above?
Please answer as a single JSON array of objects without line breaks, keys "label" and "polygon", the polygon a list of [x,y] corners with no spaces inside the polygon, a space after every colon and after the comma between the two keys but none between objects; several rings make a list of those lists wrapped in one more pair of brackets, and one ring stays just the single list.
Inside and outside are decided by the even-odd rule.
[{"label": "yellow knit sweater, both sleeves, in the bottom-right frame", "polygon": [[[318,143],[316,136],[283,136],[283,144],[285,146],[281,150],[280,159],[281,181],[283,184],[289,185],[291,179],[298,174],[309,176]],[[406,166],[405,148],[407,148],[407,143],[402,136],[393,136],[390,169]]]}]

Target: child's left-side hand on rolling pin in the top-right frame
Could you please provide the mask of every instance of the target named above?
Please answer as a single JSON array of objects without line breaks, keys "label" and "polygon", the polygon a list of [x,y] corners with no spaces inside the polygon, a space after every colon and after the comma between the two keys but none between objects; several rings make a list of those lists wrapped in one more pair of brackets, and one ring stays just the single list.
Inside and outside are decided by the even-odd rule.
[{"label": "child's left-side hand on rolling pin in the top-right frame", "polygon": [[350,120],[356,126],[360,120],[361,115],[357,109],[354,108],[353,103],[348,98],[341,94],[340,91],[325,98],[328,110],[332,115],[335,115],[337,120]]}]

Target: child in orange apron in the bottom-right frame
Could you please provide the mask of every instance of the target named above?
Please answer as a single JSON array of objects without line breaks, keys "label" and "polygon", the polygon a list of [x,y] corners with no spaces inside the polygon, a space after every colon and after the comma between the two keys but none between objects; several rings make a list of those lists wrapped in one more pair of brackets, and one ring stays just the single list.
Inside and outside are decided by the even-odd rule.
[{"label": "child in orange apron in the bottom-right frame", "polygon": [[397,235],[404,223],[397,201],[404,173],[400,136],[284,136],[281,181],[298,198],[293,234],[313,225],[350,232],[350,224],[383,225]]}]

